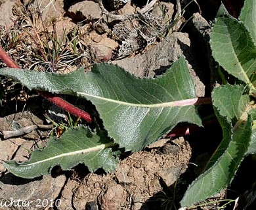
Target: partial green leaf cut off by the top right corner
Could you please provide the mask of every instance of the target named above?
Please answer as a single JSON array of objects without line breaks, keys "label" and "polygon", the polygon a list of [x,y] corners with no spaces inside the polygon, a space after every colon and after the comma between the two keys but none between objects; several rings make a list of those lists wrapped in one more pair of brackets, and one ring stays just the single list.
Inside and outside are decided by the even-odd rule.
[{"label": "partial green leaf cut off by the top right corner", "polygon": [[246,0],[239,16],[256,43],[256,1]]}]

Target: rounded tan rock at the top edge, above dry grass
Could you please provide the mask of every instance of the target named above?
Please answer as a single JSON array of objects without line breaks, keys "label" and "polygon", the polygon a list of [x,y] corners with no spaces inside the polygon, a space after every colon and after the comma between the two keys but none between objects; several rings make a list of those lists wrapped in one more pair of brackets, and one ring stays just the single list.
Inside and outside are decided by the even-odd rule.
[{"label": "rounded tan rock at the top edge, above dry grass", "polygon": [[68,11],[68,15],[76,21],[98,20],[102,16],[98,3],[94,1],[81,1],[72,5]]}]

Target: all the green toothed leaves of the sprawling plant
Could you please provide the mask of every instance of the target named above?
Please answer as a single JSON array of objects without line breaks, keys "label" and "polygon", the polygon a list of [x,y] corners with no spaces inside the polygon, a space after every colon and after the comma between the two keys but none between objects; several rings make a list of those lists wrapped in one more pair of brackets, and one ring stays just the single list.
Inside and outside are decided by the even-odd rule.
[{"label": "all the green toothed leaves of the sprawling plant", "polygon": [[[246,0],[239,20],[224,11],[213,25],[213,57],[239,82],[213,89],[213,107],[223,128],[223,140],[202,175],[188,187],[182,207],[226,188],[244,157],[256,152],[255,18],[255,1]],[[49,139],[43,150],[35,150],[29,161],[6,161],[5,167],[20,177],[50,173],[54,165],[70,169],[77,163],[85,163],[91,171],[99,167],[112,171],[118,147],[142,150],[180,122],[201,125],[192,102],[197,99],[194,83],[183,57],[154,79],[137,78],[112,64],[95,64],[87,74],[83,68],[66,75],[11,68],[1,69],[0,74],[29,89],[86,98],[95,105],[108,132],[108,137],[102,137],[87,127],[69,129],[61,138]]]}]

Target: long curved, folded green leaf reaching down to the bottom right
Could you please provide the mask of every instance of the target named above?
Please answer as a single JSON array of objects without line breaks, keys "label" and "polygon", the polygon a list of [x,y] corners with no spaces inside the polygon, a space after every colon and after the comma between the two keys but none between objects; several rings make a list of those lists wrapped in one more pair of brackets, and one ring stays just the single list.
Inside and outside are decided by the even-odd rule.
[{"label": "long curved, folded green leaf reaching down to the bottom right", "polygon": [[[230,97],[232,93],[237,96]],[[224,97],[223,94],[225,100],[219,98]],[[251,107],[248,96],[244,95],[244,87],[223,85],[213,90],[212,98],[215,114],[223,129],[223,140],[205,171],[188,187],[181,201],[182,207],[205,200],[226,188],[234,178],[251,142],[253,119],[251,114],[247,114]]]}]

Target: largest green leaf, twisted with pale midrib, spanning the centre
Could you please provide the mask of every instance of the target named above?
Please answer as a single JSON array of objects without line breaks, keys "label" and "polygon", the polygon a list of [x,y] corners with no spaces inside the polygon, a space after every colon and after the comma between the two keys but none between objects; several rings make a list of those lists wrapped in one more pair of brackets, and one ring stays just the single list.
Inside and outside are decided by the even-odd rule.
[{"label": "largest green leaf, twisted with pale midrib, spanning the centre", "polygon": [[113,64],[95,64],[85,74],[66,75],[2,69],[0,74],[29,89],[77,95],[91,100],[108,135],[125,150],[141,150],[169,132],[177,123],[201,125],[192,77],[181,57],[164,75],[140,79]]}]

